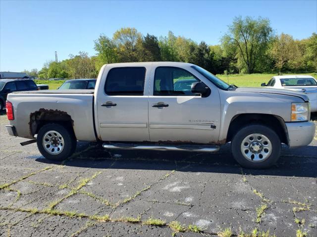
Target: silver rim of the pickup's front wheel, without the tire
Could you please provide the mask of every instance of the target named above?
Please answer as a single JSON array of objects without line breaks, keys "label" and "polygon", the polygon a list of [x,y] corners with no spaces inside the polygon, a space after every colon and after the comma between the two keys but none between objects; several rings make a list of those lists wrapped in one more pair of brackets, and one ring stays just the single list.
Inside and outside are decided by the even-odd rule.
[{"label": "silver rim of the pickup's front wheel, without the tire", "polygon": [[241,153],[250,161],[262,162],[271,155],[272,143],[263,134],[253,133],[243,139]]}]

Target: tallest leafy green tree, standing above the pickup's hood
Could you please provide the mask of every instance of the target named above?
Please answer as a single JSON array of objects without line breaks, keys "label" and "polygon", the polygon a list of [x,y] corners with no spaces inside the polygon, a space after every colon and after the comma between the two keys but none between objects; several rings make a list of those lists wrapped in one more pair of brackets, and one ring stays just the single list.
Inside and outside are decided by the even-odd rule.
[{"label": "tallest leafy green tree, standing above the pickup's hood", "polygon": [[221,41],[224,48],[234,50],[242,58],[247,73],[254,73],[259,58],[268,48],[273,37],[273,30],[268,19],[259,17],[235,17],[229,31]]}]

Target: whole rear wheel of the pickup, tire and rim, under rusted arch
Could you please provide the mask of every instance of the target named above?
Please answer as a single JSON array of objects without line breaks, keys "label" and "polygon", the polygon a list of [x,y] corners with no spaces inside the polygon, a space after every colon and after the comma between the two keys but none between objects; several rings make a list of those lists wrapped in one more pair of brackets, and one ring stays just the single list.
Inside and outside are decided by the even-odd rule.
[{"label": "whole rear wheel of the pickup, tire and rim, under rusted arch", "polygon": [[75,151],[76,144],[73,132],[56,123],[41,127],[37,136],[39,151],[50,160],[60,161],[70,157]]}]

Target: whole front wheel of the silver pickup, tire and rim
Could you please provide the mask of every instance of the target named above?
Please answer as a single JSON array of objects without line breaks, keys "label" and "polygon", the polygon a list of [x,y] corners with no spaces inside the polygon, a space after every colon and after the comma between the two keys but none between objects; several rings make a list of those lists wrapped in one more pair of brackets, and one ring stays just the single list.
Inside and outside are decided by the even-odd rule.
[{"label": "whole front wheel of the silver pickup, tire and rim", "polygon": [[270,127],[252,124],[241,128],[231,141],[235,160],[246,168],[268,168],[280,156],[281,141]]}]

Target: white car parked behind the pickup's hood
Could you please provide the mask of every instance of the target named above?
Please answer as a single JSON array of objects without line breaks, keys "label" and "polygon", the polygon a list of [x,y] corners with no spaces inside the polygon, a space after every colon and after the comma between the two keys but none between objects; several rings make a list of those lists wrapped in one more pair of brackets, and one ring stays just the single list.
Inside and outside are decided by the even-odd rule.
[{"label": "white car parked behind the pickup's hood", "polygon": [[317,80],[309,75],[274,76],[261,86],[288,89],[307,94],[311,103],[311,112],[317,112]]}]

